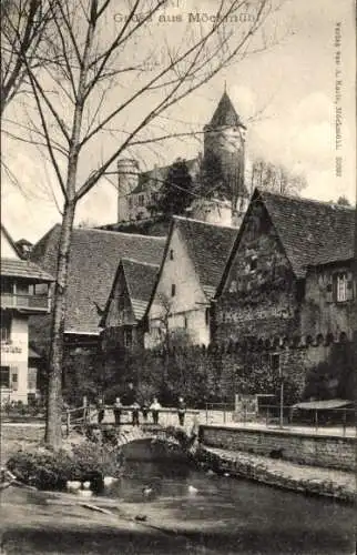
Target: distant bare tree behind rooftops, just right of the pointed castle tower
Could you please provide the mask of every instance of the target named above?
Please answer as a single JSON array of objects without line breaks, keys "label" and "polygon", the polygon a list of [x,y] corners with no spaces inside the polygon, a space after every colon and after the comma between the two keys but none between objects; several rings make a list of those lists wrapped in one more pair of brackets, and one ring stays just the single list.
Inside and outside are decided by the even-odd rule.
[{"label": "distant bare tree behind rooftops, just right of the pointed castle tower", "polygon": [[273,191],[280,194],[298,195],[307,186],[306,178],[302,173],[288,170],[283,164],[273,164],[262,158],[253,160],[248,188]]}]

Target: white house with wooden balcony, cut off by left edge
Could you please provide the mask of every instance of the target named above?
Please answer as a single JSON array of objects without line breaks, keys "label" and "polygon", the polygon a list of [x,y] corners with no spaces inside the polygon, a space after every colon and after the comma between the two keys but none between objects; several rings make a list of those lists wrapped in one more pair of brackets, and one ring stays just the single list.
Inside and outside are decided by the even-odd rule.
[{"label": "white house with wooden balcony, cut off by left edge", "polygon": [[52,275],[23,260],[1,224],[1,403],[35,396],[37,374],[29,349],[29,317],[50,311]]}]

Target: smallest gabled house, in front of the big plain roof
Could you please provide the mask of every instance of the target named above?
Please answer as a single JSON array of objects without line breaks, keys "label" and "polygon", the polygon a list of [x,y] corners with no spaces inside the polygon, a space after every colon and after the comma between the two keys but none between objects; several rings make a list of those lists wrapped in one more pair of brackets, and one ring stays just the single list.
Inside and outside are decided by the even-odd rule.
[{"label": "smallest gabled house, in front of the big plain roof", "polygon": [[159,264],[121,259],[100,326],[103,341],[124,349],[144,346],[141,325],[156,282]]}]

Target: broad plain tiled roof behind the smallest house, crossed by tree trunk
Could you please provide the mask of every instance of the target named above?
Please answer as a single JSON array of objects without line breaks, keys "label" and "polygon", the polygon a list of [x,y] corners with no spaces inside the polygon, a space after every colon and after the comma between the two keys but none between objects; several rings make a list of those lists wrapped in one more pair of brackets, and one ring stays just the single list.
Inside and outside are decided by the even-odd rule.
[{"label": "broad plain tiled roof behind the smallest house, crossed by tree trunk", "polygon": [[[48,271],[57,265],[60,226],[37,243],[31,253]],[[99,333],[102,311],[122,258],[159,264],[165,238],[152,238],[114,231],[75,229],[70,251],[65,332]]]}]

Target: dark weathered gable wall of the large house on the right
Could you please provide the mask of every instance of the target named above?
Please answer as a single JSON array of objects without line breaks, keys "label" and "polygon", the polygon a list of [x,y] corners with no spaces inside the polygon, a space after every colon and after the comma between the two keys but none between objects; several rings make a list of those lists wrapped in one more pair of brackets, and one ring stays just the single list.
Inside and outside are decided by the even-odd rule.
[{"label": "dark weathered gable wall of the large house on the right", "polygon": [[[256,269],[251,262],[256,259]],[[292,335],[299,330],[296,280],[265,208],[251,204],[215,307],[216,341]]]}]

